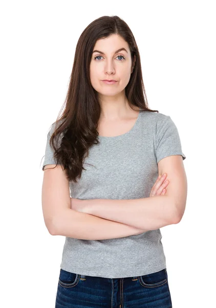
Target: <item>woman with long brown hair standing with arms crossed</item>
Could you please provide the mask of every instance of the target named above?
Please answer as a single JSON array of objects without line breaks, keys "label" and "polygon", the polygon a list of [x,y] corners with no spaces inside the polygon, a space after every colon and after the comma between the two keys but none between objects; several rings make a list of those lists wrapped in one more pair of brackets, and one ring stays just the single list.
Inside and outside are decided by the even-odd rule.
[{"label": "woman with long brown hair standing with arms crossed", "polygon": [[160,227],[184,214],[185,158],[174,122],[148,108],[132,31],[93,21],[42,167],[46,226],[66,237],[56,308],[172,306]]}]

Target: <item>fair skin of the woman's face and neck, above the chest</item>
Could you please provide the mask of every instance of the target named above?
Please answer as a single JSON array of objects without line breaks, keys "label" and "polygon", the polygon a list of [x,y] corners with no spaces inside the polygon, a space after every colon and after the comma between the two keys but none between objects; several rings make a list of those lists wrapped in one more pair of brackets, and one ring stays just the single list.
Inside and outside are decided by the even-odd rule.
[{"label": "fair skin of the woman's face and neck, above the chest", "polygon": [[[125,48],[115,53],[116,50]],[[98,50],[103,52],[94,52]],[[95,59],[96,57],[96,59]],[[90,62],[90,80],[92,87],[98,92],[101,105],[99,122],[106,124],[120,123],[135,114],[126,99],[125,87],[131,78],[136,57],[133,62],[127,42],[117,34],[98,40],[93,48]],[[107,85],[102,80],[116,80],[116,84]]]}]

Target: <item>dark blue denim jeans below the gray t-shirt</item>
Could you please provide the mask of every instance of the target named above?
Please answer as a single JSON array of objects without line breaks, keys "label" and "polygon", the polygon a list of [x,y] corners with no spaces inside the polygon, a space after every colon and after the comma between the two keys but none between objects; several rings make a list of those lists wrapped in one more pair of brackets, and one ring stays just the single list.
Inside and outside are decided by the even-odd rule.
[{"label": "dark blue denim jeans below the gray t-shirt", "polygon": [[126,278],[102,278],[60,269],[55,308],[171,308],[166,268]]}]

